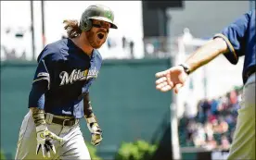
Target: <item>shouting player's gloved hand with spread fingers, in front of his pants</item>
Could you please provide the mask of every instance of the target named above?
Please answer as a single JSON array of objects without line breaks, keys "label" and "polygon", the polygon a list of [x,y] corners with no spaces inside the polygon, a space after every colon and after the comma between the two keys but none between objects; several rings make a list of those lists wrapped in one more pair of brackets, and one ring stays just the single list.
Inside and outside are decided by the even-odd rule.
[{"label": "shouting player's gloved hand with spread fingers, in front of his pants", "polygon": [[36,127],[36,140],[37,140],[37,146],[36,146],[36,154],[39,154],[40,149],[42,150],[43,157],[45,157],[45,154],[47,154],[48,157],[50,157],[50,150],[56,154],[56,149],[53,144],[54,140],[57,140],[59,142],[62,142],[63,139],[58,137],[53,132],[49,131],[45,125],[41,125]]}]

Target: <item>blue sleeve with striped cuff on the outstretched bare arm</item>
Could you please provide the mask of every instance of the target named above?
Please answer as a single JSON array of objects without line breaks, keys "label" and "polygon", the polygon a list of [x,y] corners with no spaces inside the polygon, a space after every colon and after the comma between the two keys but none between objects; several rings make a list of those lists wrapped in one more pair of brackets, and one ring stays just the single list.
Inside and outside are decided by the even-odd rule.
[{"label": "blue sleeve with striped cuff on the outstretched bare arm", "polygon": [[243,47],[245,47],[249,18],[250,12],[237,18],[237,20],[225,27],[221,33],[218,33],[213,37],[221,37],[224,39],[229,49],[229,52],[224,53],[224,56],[232,64],[237,64],[238,57],[245,54],[242,50]]}]

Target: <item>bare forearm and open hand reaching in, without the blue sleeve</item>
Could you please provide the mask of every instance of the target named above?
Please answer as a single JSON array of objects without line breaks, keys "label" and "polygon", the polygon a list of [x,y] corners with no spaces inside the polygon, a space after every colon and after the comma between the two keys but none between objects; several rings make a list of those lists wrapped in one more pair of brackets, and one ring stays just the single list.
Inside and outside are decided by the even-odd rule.
[{"label": "bare forearm and open hand reaching in, without the blue sleeve", "polygon": [[[195,71],[197,68],[211,62],[216,56],[228,51],[227,44],[222,38],[215,38],[204,44],[196,52],[186,59],[186,66],[189,73]],[[168,92],[174,89],[177,93],[181,87],[184,86],[188,77],[188,72],[181,67],[173,67],[167,70],[156,73],[156,89],[161,92]]]}]

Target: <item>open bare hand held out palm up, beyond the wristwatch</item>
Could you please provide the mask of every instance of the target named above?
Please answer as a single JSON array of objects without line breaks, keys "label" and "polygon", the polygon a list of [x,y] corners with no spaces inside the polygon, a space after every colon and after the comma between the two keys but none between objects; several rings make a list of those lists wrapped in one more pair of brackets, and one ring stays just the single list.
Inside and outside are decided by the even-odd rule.
[{"label": "open bare hand held out palm up, beyond the wristwatch", "polygon": [[168,92],[172,89],[175,93],[179,92],[186,82],[188,75],[181,66],[169,68],[156,73],[156,89],[160,92]]}]

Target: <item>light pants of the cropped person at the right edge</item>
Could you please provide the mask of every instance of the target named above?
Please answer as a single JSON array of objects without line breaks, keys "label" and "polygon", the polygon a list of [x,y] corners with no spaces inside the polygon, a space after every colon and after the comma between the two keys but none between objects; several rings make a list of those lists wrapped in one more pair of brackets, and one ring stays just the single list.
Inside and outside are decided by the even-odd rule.
[{"label": "light pants of the cropped person at the right edge", "polygon": [[228,160],[255,159],[255,76],[252,74],[243,88],[241,108]]}]

